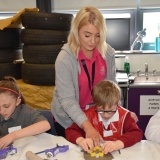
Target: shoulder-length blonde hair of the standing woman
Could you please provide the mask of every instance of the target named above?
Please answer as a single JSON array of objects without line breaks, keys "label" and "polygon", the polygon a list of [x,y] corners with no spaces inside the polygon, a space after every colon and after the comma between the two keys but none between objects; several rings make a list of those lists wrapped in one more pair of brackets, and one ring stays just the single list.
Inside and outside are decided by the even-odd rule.
[{"label": "shoulder-length blonde hair of the standing woman", "polygon": [[93,24],[98,29],[100,34],[100,42],[97,45],[97,49],[102,55],[102,57],[105,58],[105,53],[107,51],[106,23],[101,12],[95,7],[91,7],[91,6],[83,7],[76,14],[76,17],[73,18],[72,20],[71,30],[68,36],[68,45],[71,51],[75,56],[78,55],[79,48],[80,48],[78,31],[82,26],[86,25],[87,23]]}]

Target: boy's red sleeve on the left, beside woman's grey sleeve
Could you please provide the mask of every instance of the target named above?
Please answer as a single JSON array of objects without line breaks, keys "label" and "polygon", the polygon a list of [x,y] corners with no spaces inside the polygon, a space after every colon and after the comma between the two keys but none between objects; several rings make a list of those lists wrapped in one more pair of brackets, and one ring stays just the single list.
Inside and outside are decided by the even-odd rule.
[{"label": "boy's red sleeve on the left, beside woman's grey sleeve", "polygon": [[77,138],[85,137],[85,132],[76,123],[72,123],[70,127],[66,128],[65,134],[66,139],[74,144],[76,144]]}]

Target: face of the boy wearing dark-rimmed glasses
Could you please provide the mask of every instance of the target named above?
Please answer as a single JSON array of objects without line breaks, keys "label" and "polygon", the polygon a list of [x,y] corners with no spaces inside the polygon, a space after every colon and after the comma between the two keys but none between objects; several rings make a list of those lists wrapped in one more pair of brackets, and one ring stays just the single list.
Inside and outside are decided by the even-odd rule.
[{"label": "face of the boy wearing dark-rimmed glasses", "polygon": [[102,116],[103,119],[110,119],[117,111],[117,104],[113,105],[110,109],[108,106],[103,109],[101,106],[97,107],[97,112]]}]

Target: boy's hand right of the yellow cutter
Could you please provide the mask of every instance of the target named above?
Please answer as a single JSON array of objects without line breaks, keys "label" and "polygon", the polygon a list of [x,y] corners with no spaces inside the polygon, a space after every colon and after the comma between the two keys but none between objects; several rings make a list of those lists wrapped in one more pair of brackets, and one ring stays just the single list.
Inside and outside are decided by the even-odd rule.
[{"label": "boy's hand right of the yellow cutter", "polygon": [[122,141],[107,141],[102,145],[102,150],[104,154],[107,154],[108,152],[113,152],[115,150],[119,150],[124,148],[124,144]]}]

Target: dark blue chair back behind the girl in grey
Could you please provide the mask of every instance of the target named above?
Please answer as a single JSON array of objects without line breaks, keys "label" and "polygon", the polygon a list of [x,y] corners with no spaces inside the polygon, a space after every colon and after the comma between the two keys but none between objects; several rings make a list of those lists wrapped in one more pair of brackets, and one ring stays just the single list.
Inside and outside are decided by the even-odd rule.
[{"label": "dark blue chair back behind the girl in grey", "polygon": [[46,133],[52,134],[52,135],[56,135],[56,131],[55,131],[55,127],[54,127],[54,119],[53,119],[53,115],[51,113],[50,110],[39,110],[40,113],[47,118],[48,122],[51,125],[51,129],[46,131]]}]

